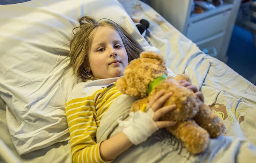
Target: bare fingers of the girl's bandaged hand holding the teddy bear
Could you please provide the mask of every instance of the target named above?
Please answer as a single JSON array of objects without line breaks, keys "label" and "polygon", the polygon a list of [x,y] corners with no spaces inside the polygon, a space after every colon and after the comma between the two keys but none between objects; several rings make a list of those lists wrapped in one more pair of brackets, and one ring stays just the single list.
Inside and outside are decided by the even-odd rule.
[{"label": "bare fingers of the girl's bandaged hand holding the teddy bear", "polygon": [[171,97],[171,95],[171,92],[165,94],[165,91],[160,91],[148,103],[150,108],[154,111],[153,120],[159,129],[176,124],[175,121],[158,121],[160,117],[176,109],[175,104],[162,107],[165,101]]}]

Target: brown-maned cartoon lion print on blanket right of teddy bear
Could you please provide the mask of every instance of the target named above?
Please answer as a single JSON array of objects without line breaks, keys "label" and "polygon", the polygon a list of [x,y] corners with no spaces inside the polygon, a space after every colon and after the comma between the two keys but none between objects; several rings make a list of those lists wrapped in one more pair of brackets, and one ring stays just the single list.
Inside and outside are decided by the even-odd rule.
[{"label": "brown-maned cartoon lion print on blanket right of teddy bear", "polygon": [[239,118],[239,123],[245,120],[247,112],[243,109],[235,109],[235,107],[227,108],[223,104],[209,105],[211,110],[216,113],[222,120],[230,119],[230,123],[233,123]]}]

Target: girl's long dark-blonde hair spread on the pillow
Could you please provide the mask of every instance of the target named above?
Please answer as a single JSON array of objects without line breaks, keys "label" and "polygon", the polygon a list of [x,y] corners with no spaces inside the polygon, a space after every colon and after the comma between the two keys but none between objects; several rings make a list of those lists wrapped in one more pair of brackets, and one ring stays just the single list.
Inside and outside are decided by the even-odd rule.
[{"label": "girl's long dark-blonde hair spread on the pillow", "polygon": [[73,67],[74,74],[83,81],[95,80],[90,70],[89,50],[91,48],[93,35],[98,27],[111,27],[118,32],[125,46],[129,62],[135,58],[139,58],[139,54],[143,51],[142,47],[133,36],[109,19],[99,19],[99,21],[96,21],[92,17],[83,16],[79,18],[79,23],[80,26],[73,29],[74,33],[76,28],[80,28],[79,31],[74,34],[70,42],[69,57],[70,66]]}]

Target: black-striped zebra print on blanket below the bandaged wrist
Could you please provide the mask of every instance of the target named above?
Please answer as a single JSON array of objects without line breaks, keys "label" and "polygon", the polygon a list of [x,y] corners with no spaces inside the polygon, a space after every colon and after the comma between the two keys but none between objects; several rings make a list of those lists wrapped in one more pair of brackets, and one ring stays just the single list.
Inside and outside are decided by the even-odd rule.
[{"label": "black-striped zebra print on blanket below the bandaged wrist", "polygon": [[166,154],[170,154],[172,152],[177,152],[180,156],[186,157],[187,159],[193,155],[187,151],[184,143],[180,139],[174,137],[166,129],[162,129],[159,133],[157,133],[149,145],[151,146],[155,143],[158,143],[159,146],[161,146],[162,157],[165,157]]}]

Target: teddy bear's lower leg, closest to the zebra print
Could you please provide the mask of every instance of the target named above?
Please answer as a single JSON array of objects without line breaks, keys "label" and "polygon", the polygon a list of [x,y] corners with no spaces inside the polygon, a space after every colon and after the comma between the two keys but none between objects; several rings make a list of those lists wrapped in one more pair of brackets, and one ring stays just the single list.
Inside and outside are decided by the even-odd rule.
[{"label": "teddy bear's lower leg, closest to the zebra print", "polygon": [[169,131],[177,138],[181,138],[190,153],[198,154],[207,148],[209,134],[205,129],[195,123],[194,120],[182,122],[175,130]]}]

